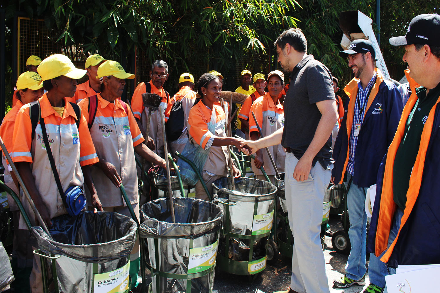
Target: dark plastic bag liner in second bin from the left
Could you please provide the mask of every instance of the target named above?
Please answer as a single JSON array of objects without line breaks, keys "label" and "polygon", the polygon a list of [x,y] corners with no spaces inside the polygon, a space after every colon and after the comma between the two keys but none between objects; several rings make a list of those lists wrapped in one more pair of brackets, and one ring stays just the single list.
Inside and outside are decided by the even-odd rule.
[{"label": "dark plastic bag liner in second bin from the left", "polygon": [[[194,248],[215,243],[222,223],[223,211],[215,204],[201,199],[174,198],[173,200],[176,223],[172,223],[169,199],[156,199],[141,207],[142,224],[139,235],[141,238],[147,238],[149,261],[153,268],[173,274],[187,274],[190,239],[193,239]],[[158,239],[157,252],[154,249],[155,239]],[[158,264],[156,254],[158,254]],[[192,279],[191,293],[211,292],[214,273],[215,271],[212,271]],[[186,292],[186,279],[153,276],[151,280],[155,293]],[[156,290],[157,282],[159,282],[159,291]]]}]

